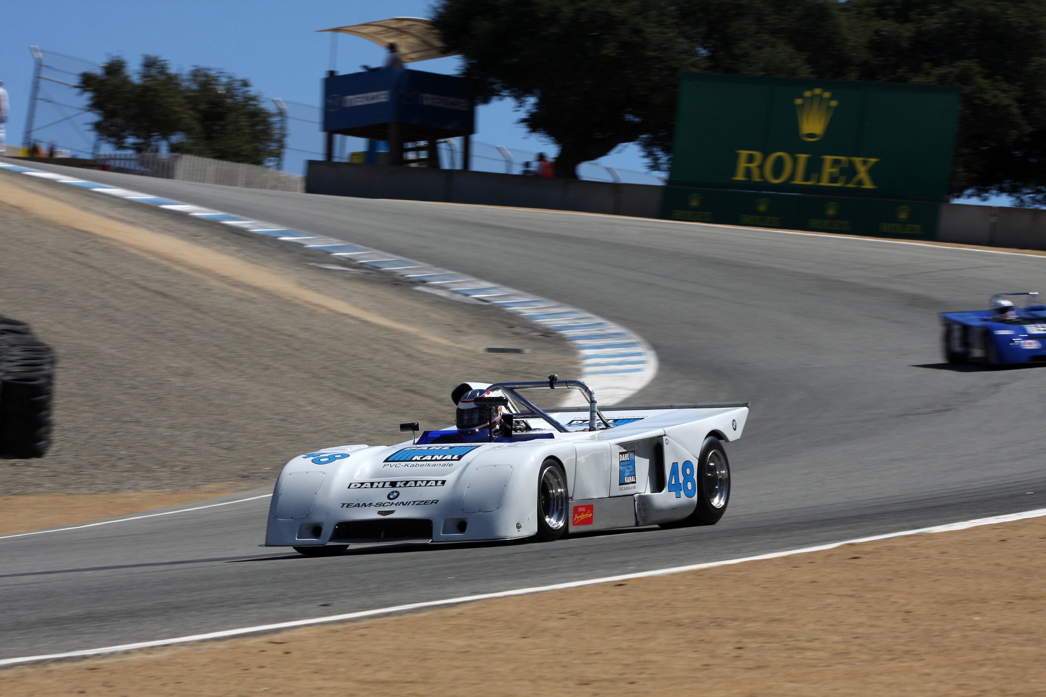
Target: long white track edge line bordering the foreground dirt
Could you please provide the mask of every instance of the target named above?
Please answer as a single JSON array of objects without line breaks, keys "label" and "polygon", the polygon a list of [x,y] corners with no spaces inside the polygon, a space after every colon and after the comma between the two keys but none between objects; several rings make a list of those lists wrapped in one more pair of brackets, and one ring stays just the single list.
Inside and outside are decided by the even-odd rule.
[{"label": "long white track edge line bordering the foreground dirt", "polygon": [[811,552],[823,552],[834,550],[843,544],[857,544],[860,542],[872,542],[876,540],[890,539],[893,537],[906,537],[908,535],[920,535],[926,533],[953,532],[956,530],[967,530],[980,526],[996,525],[999,522],[1011,522],[1025,518],[1037,518],[1046,516],[1046,508],[1023,513],[1009,513],[1007,515],[996,515],[988,518],[976,518],[961,522],[950,522],[932,528],[918,528],[916,530],[905,530],[896,533],[886,533],[885,535],[872,535],[871,537],[859,537],[857,539],[843,540],[841,542],[829,542],[817,547],[806,547],[788,552],[771,552],[754,557],[742,557],[740,559],[726,559],[724,561],[711,561],[704,564],[690,564],[688,566],[673,566],[672,568],[659,568],[652,572],[640,572],[638,574],[622,574],[620,576],[607,576],[598,579],[588,579],[585,581],[570,581],[569,583],[554,583],[552,585],[535,586],[531,588],[517,588],[516,590],[502,590],[500,593],[485,593],[478,596],[463,596],[461,598],[448,598],[446,600],[432,600],[425,603],[409,603],[407,605],[394,605],[392,607],[381,607],[374,610],[362,610],[360,612],[347,612],[345,614],[332,614],[325,618],[314,618],[311,620],[295,620],[293,622],[278,622],[270,625],[258,625],[256,627],[242,627],[240,629],[226,629],[224,631],[212,631],[206,634],[192,634],[189,636],[176,636],[174,638],[161,638],[154,642],[137,642],[135,644],[121,644],[119,646],[107,646],[100,649],[85,649],[83,651],[67,651],[65,653],[49,653],[39,656],[20,656],[17,658],[0,659],[0,667],[14,666],[16,664],[28,664],[41,660],[54,660],[58,658],[78,658],[84,656],[96,656],[104,653],[116,653],[118,651],[133,651],[135,649],[147,649],[156,646],[168,646],[172,644],[185,644],[187,642],[204,642],[213,638],[225,638],[242,634],[253,634],[258,632],[274,631],[277,629],[292,629],[294,627],[305,627],[309,625],[325,624],[328,622],[344,622],[345,620],[359,620],[378,614],[390,614],[393,612],[406,612],[409,610],[419,610],[442,605],[458,605],[461,603],[473,603],[479,600],[494,600],[497,598],[511,598],[513,596],[529,596],[536,593],[546,593],[548,590],[564,590],[566,588],[577,588],[579,586],[594,585],[596,583],[610,583],[613,581],[627,581],[630,579],[647,578],[651,576],[664,576],[666,574],[679,574],[680,572],[692,572],[701,568],[712,568],[714,566],[727,566],[740,564],[746,561],[758,561],[760,559],[777,559],[796,554],[809,554]]}]

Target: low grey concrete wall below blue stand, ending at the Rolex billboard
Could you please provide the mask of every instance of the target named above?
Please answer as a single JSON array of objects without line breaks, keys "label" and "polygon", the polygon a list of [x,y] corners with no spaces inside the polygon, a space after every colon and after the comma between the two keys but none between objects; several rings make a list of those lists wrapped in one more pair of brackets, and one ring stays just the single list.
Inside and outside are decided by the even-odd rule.
[{"label": "low grey concrete wall below blue stand, ending at the Rolex billboard", "polygon": [[306,193],[657,217],[663,187],[310,160]]}]

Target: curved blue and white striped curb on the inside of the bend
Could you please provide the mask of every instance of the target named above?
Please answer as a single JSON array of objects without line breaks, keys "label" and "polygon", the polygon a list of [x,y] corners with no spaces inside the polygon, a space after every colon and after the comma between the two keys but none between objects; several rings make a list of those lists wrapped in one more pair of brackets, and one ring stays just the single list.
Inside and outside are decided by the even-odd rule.
[{"label": "curved blue and white striped curb on the inside of the bend", "polygon": [[301,230],[201,208],[180,201],[5,162],[0,162],[0,169],[79,186],[98,193],[108,193],[192,217],[242,228],[259,235],[320,250],[335,258],[350,259],[371,269],[408,278],[419,283],[419,289],[497,305],[566,336],[581,354],[582,379],[596,391],[596,396],[604,404],[620,403],[641,390],[657,374],[657,353],[639,334],[586,310],[546,300],[530,293],[335,237],[313,235]]}]

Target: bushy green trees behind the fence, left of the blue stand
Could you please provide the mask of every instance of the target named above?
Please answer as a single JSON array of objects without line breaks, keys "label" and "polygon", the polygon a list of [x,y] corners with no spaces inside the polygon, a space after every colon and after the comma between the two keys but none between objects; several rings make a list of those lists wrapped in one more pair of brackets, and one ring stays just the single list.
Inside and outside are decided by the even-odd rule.
[{"label": "bushy green trees behind the fence, left of the blue stand", "polygon": [[210,68],[179,74],[145,55],[136,79],[115,57],[100,73],[83,73],[79,89],[98,115],[95,132],[119,149],[156,153],[166,144],[172,153],[260,165],[282,146],[278,118],[250,83]]}]

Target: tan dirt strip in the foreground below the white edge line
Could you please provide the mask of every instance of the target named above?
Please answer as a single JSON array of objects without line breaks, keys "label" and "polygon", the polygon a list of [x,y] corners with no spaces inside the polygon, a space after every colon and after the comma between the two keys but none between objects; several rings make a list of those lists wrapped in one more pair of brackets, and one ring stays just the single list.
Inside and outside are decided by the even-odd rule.
[{"label": "tan dirt strip in the foreground below the white edge line", "polygon": [[1037,517],[16,667],[0,671],[0,694],[1038,696],[1044,610]]}]

